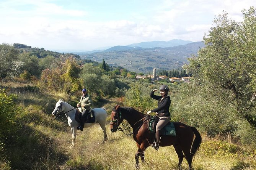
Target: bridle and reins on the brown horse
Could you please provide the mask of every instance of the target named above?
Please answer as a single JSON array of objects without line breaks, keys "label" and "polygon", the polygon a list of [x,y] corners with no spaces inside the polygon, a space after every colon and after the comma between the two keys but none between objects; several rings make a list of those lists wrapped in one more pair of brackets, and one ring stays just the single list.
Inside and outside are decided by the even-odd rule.
[{"label": "bridle and reins on the brown horse", "polygon": [[[146,121],[146,119],[139,125],[139,127],[134,130],[134,132],[131,132],[130,128],[132,128],[134,125],[136,125],[138,122],[140,122],[141,120],[143,120],[145,117],[143,117],[142,119],[138,120],[136,123],[134,123],[134,125],[130,125],[129,123],[127,123],[127,125],[123,125],[122,122],[119,120],[119,118],[121,119],[122,117],[122,112],[114,112],[112,111],[111,114],[117,114],[117,119],[116,120],[111,120],[110,121],[110,125],[116,125],[117,126],[117,130],[122,131],[125,135],[130,136],[132,134],[134,134],[137,130],[139,130],[139,128],[143,125],[143,123]],[[120,123],[119,123],[120,122]],[[123,127],[120,127],[120,124],[122,124]],[[126,128],[127,127],[127,128]],[[125,130],[129,130],[129,134],[125,133]]]}]

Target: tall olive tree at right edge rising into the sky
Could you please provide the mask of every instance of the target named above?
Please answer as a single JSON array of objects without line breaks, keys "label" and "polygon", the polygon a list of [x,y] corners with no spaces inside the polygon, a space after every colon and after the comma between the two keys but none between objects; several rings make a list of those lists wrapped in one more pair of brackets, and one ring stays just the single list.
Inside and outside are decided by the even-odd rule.
[{"label": "tall olive tree at right edge rising into the sky", "polygon": [[204,37],[205,48],[184,68],[192,73],[194,86],[232,104],[238,116],[256,128],[256,9],[242,12],[242,22],[228,19],[225,12],[217,16]]}]

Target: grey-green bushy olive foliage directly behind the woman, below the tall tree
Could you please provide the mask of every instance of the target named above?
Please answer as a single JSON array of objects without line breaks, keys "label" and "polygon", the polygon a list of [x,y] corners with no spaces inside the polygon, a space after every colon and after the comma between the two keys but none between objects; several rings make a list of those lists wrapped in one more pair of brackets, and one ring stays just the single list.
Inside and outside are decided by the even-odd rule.
[{"label": "grey-green bushy olive foliage directly behind the woman, below the tall tree", "polygon": [[172,121],[194,126],[207,135],[233,132],[237,127],[235,109],[231,103],[199,85],[183,83],[179,95],[174,96]]}]

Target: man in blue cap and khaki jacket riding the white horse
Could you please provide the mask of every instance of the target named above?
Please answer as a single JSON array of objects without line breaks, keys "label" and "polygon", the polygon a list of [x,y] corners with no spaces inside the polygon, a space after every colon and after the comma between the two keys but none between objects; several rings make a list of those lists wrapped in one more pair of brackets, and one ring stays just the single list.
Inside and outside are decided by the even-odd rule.
[{"label": "man in blue cap and khaki jacket riding the white horse", "polygon": [[81,96],[80,101],[77,103],[77,107],[81,107],[81,111],[80,111],[81,123],[80,123],[80,126],[77,127],[77,130],[81,130],[81,131],[83,131],[83,127],[86,122],[87,115],[89,114],[89,111],[91,111],[91,105],[92,105],[91,97],[87,94],[87,90],[85,88],[82,90],[82,93],[83,95]]}]

